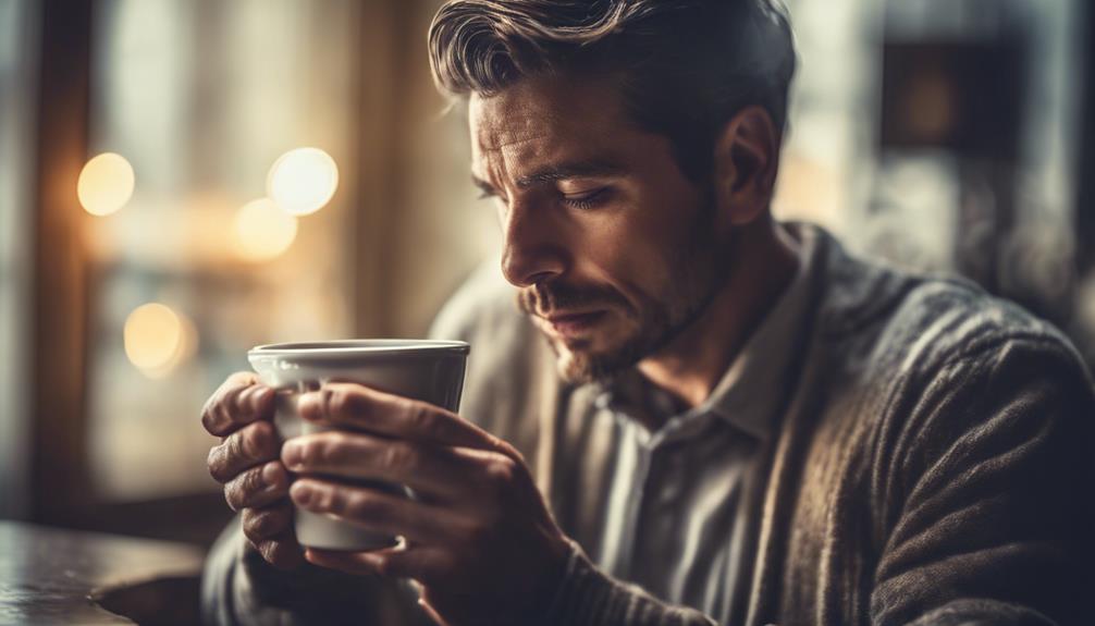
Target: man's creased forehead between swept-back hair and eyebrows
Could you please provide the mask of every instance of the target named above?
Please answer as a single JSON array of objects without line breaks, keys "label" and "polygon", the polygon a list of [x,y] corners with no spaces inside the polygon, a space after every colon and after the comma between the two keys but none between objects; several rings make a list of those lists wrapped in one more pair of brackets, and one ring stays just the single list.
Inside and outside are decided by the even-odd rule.
[{"label": "man's creased forehead between swept-back hair and eyebrows", "polygon": [[469,101],[472,173],[489,176],[552,159],[616,155],[638,132],[625,123],[619,95],[592,79],[530,79]]}]

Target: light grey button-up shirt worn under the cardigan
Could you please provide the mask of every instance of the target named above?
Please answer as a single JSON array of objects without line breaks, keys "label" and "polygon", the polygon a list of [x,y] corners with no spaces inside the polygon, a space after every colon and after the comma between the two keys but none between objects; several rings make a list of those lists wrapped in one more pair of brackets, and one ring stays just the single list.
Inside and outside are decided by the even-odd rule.
[{"label": "light grey button-up shirt worn under the cardigan", "polygon": [[[602,456],[572,465],[584,475],[562,477],[602,489],[583,513],[561,523],[590,558],[612,576],[669,602],[700,607],[729,623],[727,590],[746,584],[760,515],[747,501],[758,450],[779,428],[809,309],[814,239],[800,237],[796,276],[746,340],[703,404],[683,413],[634,370],[586,404],[584,437],[567,438],[557,455]],[[581,405],[584,403],[575,403]],[[660,424],[655,431],[644,424]],[[597,474],[602,474],[597,476]],[[600,486],[600,487],[599,487]],[[592,508],[592,510],[589,510]]]}]

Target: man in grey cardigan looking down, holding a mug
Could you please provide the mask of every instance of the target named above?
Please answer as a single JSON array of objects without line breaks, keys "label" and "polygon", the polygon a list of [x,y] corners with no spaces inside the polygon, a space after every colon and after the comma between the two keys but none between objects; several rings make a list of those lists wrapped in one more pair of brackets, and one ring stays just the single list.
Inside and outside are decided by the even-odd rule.
[{"label": "man in grey cardigan looking down, holding a mug", "polygon": [[[1087,373],[971,285],[772,219],[794,69],[773,1],[450,0],[430,51],[523,315],[477,279],[439,317],[473,346],[479,426],[331,384],[301,414],[369,434],[279,452],[270,390],[231,378],[204,415],[242,526],[211,621],[1090,619]],[[302,552],[290,499],[406,545]]]}]

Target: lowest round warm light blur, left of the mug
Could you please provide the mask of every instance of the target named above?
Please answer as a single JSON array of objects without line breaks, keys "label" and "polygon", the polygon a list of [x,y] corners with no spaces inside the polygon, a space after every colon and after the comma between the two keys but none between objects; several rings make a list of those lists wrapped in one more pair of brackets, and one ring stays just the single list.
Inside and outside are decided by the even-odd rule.
[{"label": "lowest round warm light blur, left of the mug", "polygon": [[194,350],[196,334],[186,317],[158,302],[142,304],[126,318],[126,356],[149,378],[163,378]]}]

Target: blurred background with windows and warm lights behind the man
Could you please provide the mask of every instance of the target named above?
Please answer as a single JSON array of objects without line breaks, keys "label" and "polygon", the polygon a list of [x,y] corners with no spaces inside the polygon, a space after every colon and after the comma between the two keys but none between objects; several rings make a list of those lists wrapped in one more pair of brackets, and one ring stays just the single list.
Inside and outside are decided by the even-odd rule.
[{"label": "blurred background with windows and warm lights behind the man", "polygon": [[[434,0],[0,0],[0,518],[205,544],[256,344],[422,336],[498,247]],[[1095,10],[789,0],[775,211],[1095,361]]]}]

